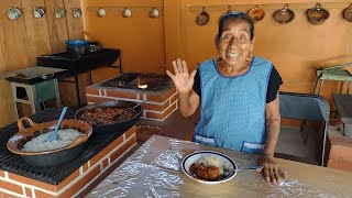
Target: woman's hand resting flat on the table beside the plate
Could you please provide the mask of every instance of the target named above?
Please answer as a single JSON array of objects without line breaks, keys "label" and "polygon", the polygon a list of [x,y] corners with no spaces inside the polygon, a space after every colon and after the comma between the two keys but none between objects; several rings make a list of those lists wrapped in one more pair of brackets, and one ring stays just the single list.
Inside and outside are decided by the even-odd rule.
[{"label": "woman's hand resting flat on the table beside the plate", "polygon": [[279,184],[279,178],[287,178],[288,174],[279,168],[278,164],[276,164],[272,156],[262,155],[257,165],[263,166],[262,174],[266,182],[273,183],[274,185]]}]

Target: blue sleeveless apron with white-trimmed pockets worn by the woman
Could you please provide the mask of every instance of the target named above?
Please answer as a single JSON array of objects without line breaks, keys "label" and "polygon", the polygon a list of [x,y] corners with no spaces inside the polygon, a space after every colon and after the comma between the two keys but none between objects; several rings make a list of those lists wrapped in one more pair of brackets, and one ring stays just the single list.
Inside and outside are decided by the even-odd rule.
[{"label": "blue sleeveless apron with white-trimmed pockets worn by the woman", "polygon": [[235,77],[222,76],[213,59],[200,64],[201,109],[194,141],[262,153],[271,70],[272,63],[260,57],[253,58],[245,74]]}]

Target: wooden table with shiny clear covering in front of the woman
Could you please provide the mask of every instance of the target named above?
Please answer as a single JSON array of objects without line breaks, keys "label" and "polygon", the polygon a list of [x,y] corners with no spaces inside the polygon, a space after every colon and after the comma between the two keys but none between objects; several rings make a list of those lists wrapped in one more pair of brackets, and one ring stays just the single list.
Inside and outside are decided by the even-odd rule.
[{"label": "wooden table with shiny clear covering in front of the woman", "polygon": [[180,168],[183,158],[195,151],[217,151],[238,166],[256,163],[258,155],[200,145],[153,135],[132,156],[102,180],[87,197],[350,197],[352,174],[293,161],[276,162],[289,173],[278,186],[261,173],[241,170],[218,185],[200,184]]}]

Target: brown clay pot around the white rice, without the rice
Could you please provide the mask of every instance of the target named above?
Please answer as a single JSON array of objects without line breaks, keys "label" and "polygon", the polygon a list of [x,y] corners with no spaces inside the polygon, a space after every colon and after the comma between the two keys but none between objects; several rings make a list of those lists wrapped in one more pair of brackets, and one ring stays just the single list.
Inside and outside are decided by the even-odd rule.
[{"label": "brown clay pot around the white rice, without the rice", "polygon": [[[24,128],[23,121],[26,121],[30,124],[30,128]],[[19,132],[11,136],[7,143],[8,150],[14,154],[21,155],[21,157],[26,163],[35,166],[54,166],[74,160],[82,152],[84,143],[89,139],[89,136],[92,133],[91,125],[84,121],[75,119],[64,119],[59,128],[75,129],[84,133],[84,135],[78,136],[68,146],[45,152],[21,151],[21,148],[26,142],[43,133],[54,131],[56,123],[57,120],[43,123],[35,123],[26,117],[21,118],[18,121]]]}]

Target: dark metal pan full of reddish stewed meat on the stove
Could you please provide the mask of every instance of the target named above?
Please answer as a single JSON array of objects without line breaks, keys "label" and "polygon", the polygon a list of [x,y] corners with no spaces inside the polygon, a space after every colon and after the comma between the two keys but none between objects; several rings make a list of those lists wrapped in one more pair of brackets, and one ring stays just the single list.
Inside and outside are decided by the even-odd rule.
[{"label": "dark metal pan full of reddish stewed meat on the stove", "polygon": [[79,109],[75,119],[89,123],[95,133],[123,133],[140,119],[141,103],[127,100],[95,103]]}]

